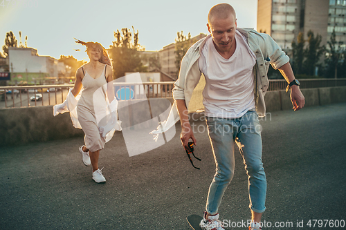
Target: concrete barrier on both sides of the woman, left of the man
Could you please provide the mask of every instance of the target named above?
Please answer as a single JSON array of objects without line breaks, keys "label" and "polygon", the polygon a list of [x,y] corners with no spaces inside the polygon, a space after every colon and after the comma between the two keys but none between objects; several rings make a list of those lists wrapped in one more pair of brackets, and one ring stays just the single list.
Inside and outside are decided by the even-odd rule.
[{"label": "concrete barrier on both sides of the woman, left of the man", "polygon": [[[129,102],[119,102],[118,113],[119,117],[122,115],[122,128],[143,122],[145,125],[147,120],[170,110],[173,99],[151,98],[149,101],[144,99]],[[84,136],[82,129],[73,127],[69,113],[54,117],[53,106],[0,109],[0,120],[0,146]]]}]

